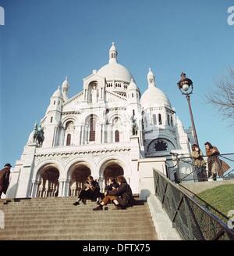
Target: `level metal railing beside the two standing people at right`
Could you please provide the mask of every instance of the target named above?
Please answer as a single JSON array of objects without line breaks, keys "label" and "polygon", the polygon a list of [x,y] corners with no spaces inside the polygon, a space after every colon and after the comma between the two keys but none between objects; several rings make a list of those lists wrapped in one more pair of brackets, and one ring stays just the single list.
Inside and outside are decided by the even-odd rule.
[{"label": "level metal railing beside the two standing people at right", "polygon": [[[229,169],[225,171],[222,176],[217,176],[218,179],[231,179],[234,178],[234,153],[226,153],[219,155],[220,160],[225,161],[229,165]],[[204,160],[207,160],[207,156],[204,156]],[[203,178],[198,177],[197,173],[201,171],[193,164],[192,157],[180,157],[176,155],[172,160],[168,160],[167,175],[172,181],[175,181],[175,174],[179,178],[180,182],[186,181],[207,181],[208,170],[204,168]]]}]

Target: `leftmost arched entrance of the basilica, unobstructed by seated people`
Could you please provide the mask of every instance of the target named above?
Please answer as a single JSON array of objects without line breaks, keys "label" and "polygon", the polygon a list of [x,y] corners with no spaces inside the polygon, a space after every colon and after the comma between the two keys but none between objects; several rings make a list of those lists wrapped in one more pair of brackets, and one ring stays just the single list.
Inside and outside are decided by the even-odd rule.
[{"label": "leftmost arched entrance of the basilica, unobstructed by seated people", "polygon": [[37,197],[58,197],[59,171],[55,164],[48,164],[39,171]]}]

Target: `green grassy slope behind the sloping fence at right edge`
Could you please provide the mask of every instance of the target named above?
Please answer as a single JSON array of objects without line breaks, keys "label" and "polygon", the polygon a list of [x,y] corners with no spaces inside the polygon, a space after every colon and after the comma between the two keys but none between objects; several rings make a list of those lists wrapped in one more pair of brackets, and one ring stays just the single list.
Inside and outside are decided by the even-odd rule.
[{"label": "green grassy slope behind the sloping fence at right edge", "polygon": [[199,193],[198,196],[225,215],[228,215],[230,210],[234,210],[234,184],[221,185],[213,189],[207,189]]}]

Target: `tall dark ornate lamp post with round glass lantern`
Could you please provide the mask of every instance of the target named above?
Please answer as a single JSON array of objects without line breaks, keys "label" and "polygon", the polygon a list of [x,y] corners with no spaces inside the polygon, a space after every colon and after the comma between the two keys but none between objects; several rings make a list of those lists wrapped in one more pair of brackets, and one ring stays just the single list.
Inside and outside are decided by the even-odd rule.
[{"label": "tall dark ornate lamp post with round glass lantern", "polygon": [[189,110],[190,110],[190,118],[191,118],[191,123],[192,123],[192,128],[193,128],[193,136],[195,139],[195,143],[197,144],[197,146],[199,146],[198,139],[197,139],[197,132],[196,132],[196,128],[195,128],[195,124],[194,124],[194,120],[193,120],[193,112],[192,112],[192,108],[191,108],[191,104],[190,104],[190,94],[193,93],[193,81],[190,78],[186,78],[186,74],[184,74],[182,72],[181,79],[177,83],[177,85],[179,87],[180,92],[182,92],[182,94],[186,96],[186,99],[188,101]]}]

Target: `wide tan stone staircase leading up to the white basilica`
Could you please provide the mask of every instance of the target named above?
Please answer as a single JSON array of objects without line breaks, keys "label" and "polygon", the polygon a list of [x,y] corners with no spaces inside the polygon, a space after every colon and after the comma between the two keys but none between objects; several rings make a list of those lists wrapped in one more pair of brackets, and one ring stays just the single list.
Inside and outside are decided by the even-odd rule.
[{"label": "wide tan stone staircase leading up to the white basilica", "polygon": [[75,200],[0,200],[0,210],[5,214],[0,240],[157,240],[144,201],[137,200],[137,205],[126,210],[115,211],[114,205],[108,204],[108,211],[92,211],[95,202],[87,200],[87,205],[74,206]]}]

